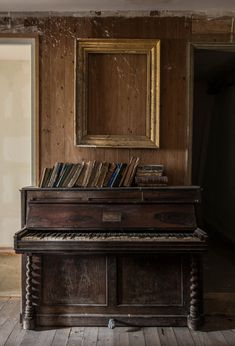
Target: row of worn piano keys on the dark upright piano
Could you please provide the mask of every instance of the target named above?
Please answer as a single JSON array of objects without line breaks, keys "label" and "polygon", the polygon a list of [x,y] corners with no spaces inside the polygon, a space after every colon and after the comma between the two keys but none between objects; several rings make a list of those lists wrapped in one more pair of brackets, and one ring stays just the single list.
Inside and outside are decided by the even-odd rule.
[{"label": "row of worn piano keys on the dark upright piano", "polygon": [[200,241],[193,233],[28,232],[21,241]]}]

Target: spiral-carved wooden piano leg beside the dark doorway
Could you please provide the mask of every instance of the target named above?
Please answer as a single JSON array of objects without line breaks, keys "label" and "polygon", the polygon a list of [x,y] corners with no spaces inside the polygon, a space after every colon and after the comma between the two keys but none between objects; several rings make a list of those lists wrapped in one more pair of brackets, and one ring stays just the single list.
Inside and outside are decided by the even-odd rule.
[{"label": "spiral-carved wooden piano leg beside the dark doorway", "polygon": [[190,272],[190,307],[188,315],[188,327],[192,330],[198,330],[202,324],[202,287],[200,280],[199,265],[199,256],[192,255]]}]

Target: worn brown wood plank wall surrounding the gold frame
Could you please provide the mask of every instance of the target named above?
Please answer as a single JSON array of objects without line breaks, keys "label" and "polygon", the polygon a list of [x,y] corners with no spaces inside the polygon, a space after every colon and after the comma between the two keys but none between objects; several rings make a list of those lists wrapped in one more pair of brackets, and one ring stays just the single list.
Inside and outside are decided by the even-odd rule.
[{"label": "worn brown wood plank wall surrounding the gold frame", "polygon": [[[2,35],[39,34],[40,170],[56,161],[129,161],[136,155],[142,163],[163,163],[170,184],[187,184],[188,42],[231,42],[233,31],[233,18],[209,21],[205,17],[1,17]],[[79,37],[161,40],[159,150],[74,146],[74,41]]]}]

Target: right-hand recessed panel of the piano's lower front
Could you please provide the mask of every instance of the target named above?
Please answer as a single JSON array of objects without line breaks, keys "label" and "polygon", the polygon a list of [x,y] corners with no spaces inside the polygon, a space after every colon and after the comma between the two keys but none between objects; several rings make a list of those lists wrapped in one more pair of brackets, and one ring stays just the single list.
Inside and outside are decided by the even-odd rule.
[{"label": "right-hand recessed panel of the piano's lower front", "polygon": [[183,306],[181,262],[176,255],[119,256],[118,305]]}]

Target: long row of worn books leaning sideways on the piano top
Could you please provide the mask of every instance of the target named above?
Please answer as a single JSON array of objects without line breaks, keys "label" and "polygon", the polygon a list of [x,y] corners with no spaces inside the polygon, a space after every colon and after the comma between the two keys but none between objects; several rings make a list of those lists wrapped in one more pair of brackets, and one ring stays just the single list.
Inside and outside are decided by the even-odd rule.
[{"label": "long row of worn books leaning sideways on the piano top", "polygon": [[106,161],[57,162],[54,167],[43,170],[39,187],[129,187],[134,182],[138,162],[138,157],[132,157],[128,164]]}]

